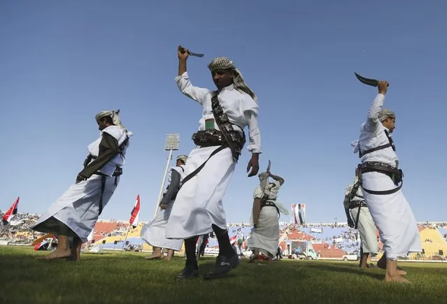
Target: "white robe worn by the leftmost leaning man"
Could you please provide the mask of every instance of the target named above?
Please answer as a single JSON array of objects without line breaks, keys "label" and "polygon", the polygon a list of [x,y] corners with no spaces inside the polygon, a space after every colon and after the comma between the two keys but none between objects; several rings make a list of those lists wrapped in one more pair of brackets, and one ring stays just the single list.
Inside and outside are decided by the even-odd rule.
[{"label": "white robe worn by the leftmost leaning man", "polygon": [[[110,129],[109,129],[110,128]],[[108,128],[101,131],[111,134],[118,140],[118,145],[120,145],[124,139],[125,135],[124,129],[115,126],[109,126]],[[97,156],[98,150],[95,147],[99,146],[101,142],[101,137],[95,140],[94,143],[89,145],[89,152],[95,153]],[[119,154],[120,155],[120,154]],[[108,166],[112,163],[111,166]],[[108,201],[113,195],[118,183],[120,182],[120,177],[111,176],[117,164],[121,166],[124,165],[124,157],[114,157],[109,161],[106,166],[101,169],[101,172],[108,175],[106,177],[106,187],[103,194],[103,209],[106,207]],[[111,168],[113,166],[113,171]],[[116,184],[115,184],[116,181]],[[60,222],[69,226],[69,228],[74,231],[78,237],[83,241],[87,242],[87,238],[94,229],[94,224],[96,224],[99,217],[99,198],[101,197],[101,176],[92,175],[91,178],[78,184],[72,184],[68,190],[65,191],[62,196],[57,198],[57,201],[53,203],[47,212],[45,212],[34,226],[30,228],[33,229],[39,224],[45,225],[45,221],[50,217],[55,217]]]}]

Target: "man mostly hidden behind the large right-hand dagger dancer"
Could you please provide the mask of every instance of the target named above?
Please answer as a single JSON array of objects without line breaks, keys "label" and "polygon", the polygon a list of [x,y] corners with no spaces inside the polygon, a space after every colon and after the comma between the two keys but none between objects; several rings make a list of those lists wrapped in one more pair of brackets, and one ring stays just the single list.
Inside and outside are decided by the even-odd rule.
[{"label": "man mostly hidden behind the large right-hand dagger dancer", "polygon": [[360,268],[371,268],[373,265],[367,263],[368,257],[370,254],[378,253],[376,224],[374,224],[374,219],[364,202],[362,187],[360,187],[357,175],[354,183],[345,190],[343,206],[348,226],[358,229],[360,234]]}]

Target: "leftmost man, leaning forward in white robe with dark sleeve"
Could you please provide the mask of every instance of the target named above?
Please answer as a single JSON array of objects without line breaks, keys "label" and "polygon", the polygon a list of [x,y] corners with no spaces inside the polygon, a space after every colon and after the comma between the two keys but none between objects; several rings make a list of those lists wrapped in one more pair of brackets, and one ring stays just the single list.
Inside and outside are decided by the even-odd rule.
[{"label": "leftmost man, leaning forward in white robe with dark sleeve", "polygon": [[[122,125],[120,111],[104,111],[95,118],[101,136],[88,146],[89,154],[76,183],[53,203],[36,224],[36,231],[57,235],[57,249],[44,259],[80,258],[80,248],[94,229],[113,195],[125,164],[131,132]],[[73,245],[70,248],[69,241]]]}]

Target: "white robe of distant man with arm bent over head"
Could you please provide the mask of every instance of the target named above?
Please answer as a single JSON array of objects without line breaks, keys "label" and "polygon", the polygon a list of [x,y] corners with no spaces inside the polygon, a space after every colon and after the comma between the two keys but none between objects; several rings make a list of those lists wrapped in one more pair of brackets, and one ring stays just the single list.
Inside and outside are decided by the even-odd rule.
[{"label": "white robe of distant man with arm bent over head", "polygon": [[[281,188],[281,184],[278,181],[274,181],[274,185],[270,185],[269,199],[272,203],[277,203],[271,199],[278,196],[278,191]],[[262,198],[264,191],[258,186],[255,189],[253,198]],[[250,222],[253,224],[253,210]],[[279,219],[278,211],[274,206],[265,206],[261,208],[259,222],[255,227],[251,229],[250,238],[247,240],[247,246],[251,249],[259,249],[262,254],[276,255],[279,244]]]}]

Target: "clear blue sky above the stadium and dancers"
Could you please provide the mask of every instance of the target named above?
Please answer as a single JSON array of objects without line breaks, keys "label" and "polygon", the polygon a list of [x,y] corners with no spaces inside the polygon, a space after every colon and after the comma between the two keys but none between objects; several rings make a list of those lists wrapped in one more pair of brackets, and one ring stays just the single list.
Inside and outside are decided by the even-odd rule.
[{"label": "clear blue sky above the stadium and dancers", "polygon": [[[215,56],[242,71],[260,103],[261,167],[271,159],[285,178],[278,200],[306,203],[307,222],[346,221],[343,191],[359,161],[350,141],[376,95],[353,73],[385,78],[404,194],[418,221],[447,219],[446,1],[178,2],[0,2],[1,210],[20,196],[20,211],[45,212],[99,135],[94,115],[120,108],[134,137],[101,218],[129,219],[140,194],[150,219],[165,135],[180,133],[188,154],[201,117],[173,81],[183,44],[206,53],[188,61],[194,85],[213,88]],[[228,222],[250,218],[249,157],[225,196]]]}]

